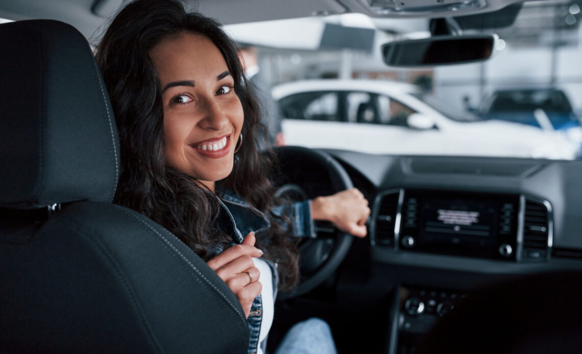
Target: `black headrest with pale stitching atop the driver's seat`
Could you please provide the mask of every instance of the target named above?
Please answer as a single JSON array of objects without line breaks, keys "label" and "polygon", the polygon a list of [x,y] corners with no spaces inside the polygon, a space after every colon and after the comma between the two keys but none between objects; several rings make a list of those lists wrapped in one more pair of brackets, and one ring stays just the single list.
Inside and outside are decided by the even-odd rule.
[{"label": "black headrest with pale stitching atop the driver's seat", "polygon": [[0,206],[111,202],[119,142],[87,40],[53,20],[0,25]]}]

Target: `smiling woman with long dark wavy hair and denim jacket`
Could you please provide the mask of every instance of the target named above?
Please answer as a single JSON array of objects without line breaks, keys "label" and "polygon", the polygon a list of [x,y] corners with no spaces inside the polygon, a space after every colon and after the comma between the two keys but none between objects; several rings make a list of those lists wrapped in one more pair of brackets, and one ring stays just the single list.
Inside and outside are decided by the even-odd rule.
[{"label": "smiling woman with long dark wavy hair and denim jacket", "polygon": [[276,290],[297,283],[289,232],[312,235],[313,220],[322,219],[364,237],[367,201],[350,189],[275,208],[271,161],[257,151],[264,127],[236,48],[217,22],[186,13],[178,1],[127,5],[102,38],[97,62],[119,130],[115,202],[207,260],[239,299],[249,353],[257,352]]}]

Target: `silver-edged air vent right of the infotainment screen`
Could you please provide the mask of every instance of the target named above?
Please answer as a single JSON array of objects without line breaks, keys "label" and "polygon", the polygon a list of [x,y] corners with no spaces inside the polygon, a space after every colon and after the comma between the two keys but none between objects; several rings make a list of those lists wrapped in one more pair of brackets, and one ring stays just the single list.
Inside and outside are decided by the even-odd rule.
[{"label": "silver-edged air vent right of the infotainment screen", "polygon": [[523,218],[523,244],[521,260],[541,261],[551,251],[552,220],[551,207],[547,202],[526,198]]}]

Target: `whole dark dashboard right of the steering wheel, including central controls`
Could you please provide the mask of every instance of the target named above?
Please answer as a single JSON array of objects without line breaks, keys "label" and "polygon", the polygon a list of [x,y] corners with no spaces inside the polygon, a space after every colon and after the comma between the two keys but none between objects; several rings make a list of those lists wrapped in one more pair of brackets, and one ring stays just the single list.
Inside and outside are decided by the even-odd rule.
[{"label": "whole dark dashboard right of the steering wheel, including central controls", "polygon": [[371,205],[337,296],[388,304],[379,352],[414,352],[487,284],[582,269],[582,162],[327,152]]}]

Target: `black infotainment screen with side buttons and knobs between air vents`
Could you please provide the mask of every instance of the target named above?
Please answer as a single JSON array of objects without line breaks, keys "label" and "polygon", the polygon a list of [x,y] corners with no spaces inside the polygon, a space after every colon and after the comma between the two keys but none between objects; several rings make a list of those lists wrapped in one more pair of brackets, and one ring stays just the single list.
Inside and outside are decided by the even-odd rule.
[{"label": "black infotainment screen with side buttons and knobs between air vents", "polygon": [[498,257],[515,248],[519,196],[407,190],[400,246],[410,251]]}]

